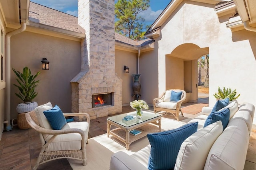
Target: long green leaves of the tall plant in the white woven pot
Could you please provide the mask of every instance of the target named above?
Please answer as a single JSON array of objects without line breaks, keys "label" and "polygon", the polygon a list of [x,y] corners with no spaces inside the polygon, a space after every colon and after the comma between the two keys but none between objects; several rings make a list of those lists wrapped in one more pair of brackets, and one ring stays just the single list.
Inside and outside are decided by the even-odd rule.
[{"label": "long green leaves of the tall plant in the white woven pot", "polygon": [[38,86],[39,80],[36,81],[35,78],[40,74],[40,72],[37,72],[36,75],[32,75],[28,67],[24,67],[22,73],[14,68],[12,68],[12,70],[16,74],[16,80],[19,84],[14,84],[14,86],[20,90],[19,93],[15,93],[16,96],[18,96],[18,98],[20,98],[24,103],[32,102],[38,94],[38,92],[35,92],[35,88]]}]

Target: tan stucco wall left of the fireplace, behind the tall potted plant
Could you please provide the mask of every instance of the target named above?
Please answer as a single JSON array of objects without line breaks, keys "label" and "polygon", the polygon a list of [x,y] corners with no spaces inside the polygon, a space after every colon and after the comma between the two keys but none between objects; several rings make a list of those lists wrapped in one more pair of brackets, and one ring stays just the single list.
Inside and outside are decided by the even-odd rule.
[{"label": "tan stucco wall left of the fireplace, behind the tall potted plant", "polygon": [[[49,70],[42,70],[42,58],[46,57]],[[22,71],[28,66],[32,74],[40,71],[34,98],[38,105],[51,102],[60,106],[63,112],[71,112],[70,80],[80,72],[80,42],[46,35],[22,32],[11,38],[11,67]],[[22,101],[14,94],[18,89],[15,74],[11,71],[11,119],[17,117],[16,106]]]}]

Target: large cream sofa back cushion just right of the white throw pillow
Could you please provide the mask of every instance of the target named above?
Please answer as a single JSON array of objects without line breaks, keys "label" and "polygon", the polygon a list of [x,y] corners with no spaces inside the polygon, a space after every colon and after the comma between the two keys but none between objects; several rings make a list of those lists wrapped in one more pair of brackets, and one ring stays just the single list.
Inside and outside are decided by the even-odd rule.
[{"label": "large cream sofa back cushion just right of the white throw pillow", "polygon": [[242,170],[249,144],[248,128],[244,120],[228,124],[208,154],[204,170]]}]

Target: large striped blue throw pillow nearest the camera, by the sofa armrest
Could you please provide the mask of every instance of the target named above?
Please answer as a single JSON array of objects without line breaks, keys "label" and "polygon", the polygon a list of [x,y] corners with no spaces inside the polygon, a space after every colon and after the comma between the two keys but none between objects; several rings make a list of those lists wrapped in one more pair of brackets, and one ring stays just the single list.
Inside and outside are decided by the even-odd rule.
[{"label": "large striped blue throw pillow nearest the camera, by the sofa armrest", "polygon": [[198,122],[177,129],[148,134],[151,145],[149,170],[173,169],[182,142],[197,131]]}]

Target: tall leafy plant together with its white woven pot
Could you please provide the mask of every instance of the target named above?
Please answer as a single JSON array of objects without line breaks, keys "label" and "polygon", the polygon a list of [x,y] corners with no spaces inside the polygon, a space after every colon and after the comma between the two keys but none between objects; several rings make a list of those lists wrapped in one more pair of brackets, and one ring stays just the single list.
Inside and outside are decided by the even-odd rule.
[{"label": "tall leafy plant together with its white woven pot", "polygon": [[17,112],[26,113],[34,110],[38,104],[37,102],[32,102],[32,100],[37,96],[38,92],[35,92],[36,86],[38,86],[39,80],[35,78],[40,74],[37,72],[36,75],[31,74],[31,71],[28,67],[23,68],[23,72],[19,72],[12,68],[16,74],[17,84],[14,84],[19,89],[19,93],[15,93],[18,98],[20,98],[23,103],[18,104]]}]

